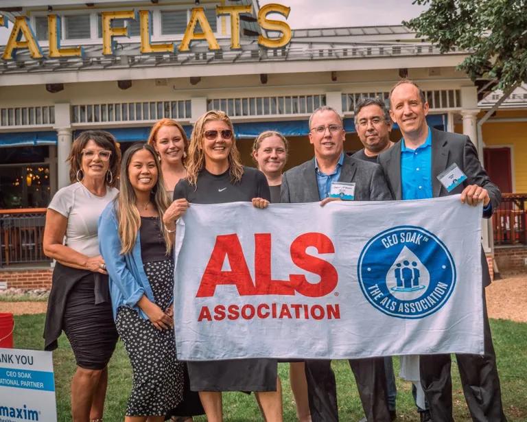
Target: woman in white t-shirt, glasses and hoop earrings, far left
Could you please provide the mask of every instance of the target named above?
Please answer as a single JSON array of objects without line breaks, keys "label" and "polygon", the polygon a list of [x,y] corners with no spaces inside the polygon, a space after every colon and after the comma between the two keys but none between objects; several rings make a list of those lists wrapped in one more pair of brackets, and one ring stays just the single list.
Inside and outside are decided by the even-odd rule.
[{"label": "woman in white t-shirt, glasses and hoop earrings, far left", "polygon": [[56,259],[45,350],[57,348],[64,330],[77,362],[71,380],[72,419],[96,422],[102,421],[107,365],[117,343],[97,221],[117,195],[121,152],[112,134],[86,130],[73,142],[68,161],[72,185],[49,203],[44,228],[44,253]]}]

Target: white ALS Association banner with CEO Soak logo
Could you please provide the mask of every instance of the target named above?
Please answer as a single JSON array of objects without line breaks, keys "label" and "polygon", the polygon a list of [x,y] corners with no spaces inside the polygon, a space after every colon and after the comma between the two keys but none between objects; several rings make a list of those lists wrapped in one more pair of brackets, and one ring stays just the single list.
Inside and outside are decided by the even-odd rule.
[{"label": "white ALS Association banner with CEO Soak logo", "polygon": [[481,215],[459,196],[191,204],[178,359],[482,353]]}]

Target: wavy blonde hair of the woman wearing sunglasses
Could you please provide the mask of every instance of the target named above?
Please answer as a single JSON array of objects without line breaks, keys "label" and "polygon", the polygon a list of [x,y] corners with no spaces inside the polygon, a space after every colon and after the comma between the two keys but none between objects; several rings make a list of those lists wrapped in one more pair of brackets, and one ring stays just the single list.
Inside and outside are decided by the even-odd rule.
[{"label": "wavy blonde hair of the woman wearing sunglasses", "polygon": [[229,152],[229,174],[231,175],[231,183],[238,183],[239,180],[242,180],[244,166],[239,158],[233,123],[223,111],[210,110],[199,117],[190,135],[189,155],[187,156],[187,180],[194,187],[196,187],[196,183],[198,182],[198,174],[205,168],[205,154],[203,152],[205,124],[209,121],[218,120],[224,121],[229,126],[229,129],[233,131],[233,144],[231,146],[231,152]]}]

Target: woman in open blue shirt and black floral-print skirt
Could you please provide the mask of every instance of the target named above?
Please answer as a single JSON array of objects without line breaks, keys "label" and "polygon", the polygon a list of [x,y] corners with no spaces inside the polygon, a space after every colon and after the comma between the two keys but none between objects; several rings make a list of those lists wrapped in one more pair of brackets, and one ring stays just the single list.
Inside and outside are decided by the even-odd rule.
[{"label": "woman in open blue shirt and black floral-print skirt", "polygon": [[121,163],[121,190],[99,220],[115,325],[133,370],[126,422],[161,422],[183,397],[183,364],[172,329],[174,234],[154,149],[135,144]]}]

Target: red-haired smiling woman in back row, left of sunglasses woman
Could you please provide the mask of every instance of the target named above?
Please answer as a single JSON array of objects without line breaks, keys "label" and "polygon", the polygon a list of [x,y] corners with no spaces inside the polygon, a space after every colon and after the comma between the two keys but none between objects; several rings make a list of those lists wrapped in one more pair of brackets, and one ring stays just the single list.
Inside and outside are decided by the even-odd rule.
[{"label": "red-haired smiling woman in back row, left of sunglasses woman", "polygon": [[185,169],[185,159],[189,148],[187,134],[177,121],[161,119],[152,126],[148,145],[151,145],[159,156],[167,194],[172,199],[174,186],[180,179],[187,176]]}]

